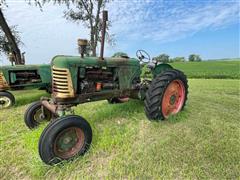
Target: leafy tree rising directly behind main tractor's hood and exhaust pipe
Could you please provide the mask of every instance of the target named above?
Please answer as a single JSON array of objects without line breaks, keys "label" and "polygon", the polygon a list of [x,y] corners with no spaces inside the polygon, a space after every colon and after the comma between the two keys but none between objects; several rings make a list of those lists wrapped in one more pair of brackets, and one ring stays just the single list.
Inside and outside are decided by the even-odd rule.
[{"label": "leafy tree rising directly behind main tractor's hood and exhaust pipe", "polygon": [[[82,22],[90,29],[90,48],[92,56],[96,56],[97,43],[101,41],[100,32],[102,22],[100,14],[109,0],[79,0],[75,1],[76,7],[65,12],[65,17],[73,22]],[[107,26],[107,29],[109,24]],[[107,39],[110,43],[112,37],[107,33]]]}]

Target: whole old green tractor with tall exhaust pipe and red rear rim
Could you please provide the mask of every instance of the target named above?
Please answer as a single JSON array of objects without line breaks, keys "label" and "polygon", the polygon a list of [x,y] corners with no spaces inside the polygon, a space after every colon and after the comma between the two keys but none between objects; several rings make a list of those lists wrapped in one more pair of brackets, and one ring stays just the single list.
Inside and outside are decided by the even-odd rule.
[{"label": "whole old green tractor with tall exhaust pipe and red rear rim", "polygon": [[[103,13],[104,24],[106,11]],[[103,24],[103,25],[104,25]],[[104,26],[103,26],[104,27]],[[74,115],[72,107],[82,103],[108,100],[121,102],[124,98],[144,101],[149,120],[162,120],[180,112],[186,103],[186,76],[168,64],[157,64],[143,50],[137,59],[103,58],[105,28],[103,28],[100,57],[84,57],[86,40],[79,40],[81,56],[56,56],[52,60],[52,98],[41,98],[25,112],[25,123],[36,128],[35,115],[51,120],[39,139],[39,155],[43,162],[53,165],[83,155],[92,142],[90,124]],[[141,79],[141,64],[147,63],[153,79]]]}]

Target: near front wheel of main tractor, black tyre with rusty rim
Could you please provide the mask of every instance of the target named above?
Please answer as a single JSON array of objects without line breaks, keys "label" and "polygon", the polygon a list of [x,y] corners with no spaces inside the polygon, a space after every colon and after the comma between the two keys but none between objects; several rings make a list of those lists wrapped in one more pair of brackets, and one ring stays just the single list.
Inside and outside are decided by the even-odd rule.
[{"label": "near front wheel of main tractor, black tyre with rusty rim", "polygon": [[80,116],[69,115],[52,121],[42,132],[38,150],[43,162],[56,164],[83,155],[92,142],[92,129]]}]

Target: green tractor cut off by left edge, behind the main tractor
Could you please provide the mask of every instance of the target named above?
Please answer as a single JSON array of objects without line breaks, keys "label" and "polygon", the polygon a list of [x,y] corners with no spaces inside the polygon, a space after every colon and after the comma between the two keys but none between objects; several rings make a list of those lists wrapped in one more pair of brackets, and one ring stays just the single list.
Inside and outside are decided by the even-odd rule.
[{"label": "green tractor cut off by left edge, behind the main tractor", "polygon": [[51,91],[50,65],[15,65],[0,67],[0,109],[15,104],[14,95],[9,92],[26,87]]}]

